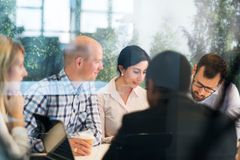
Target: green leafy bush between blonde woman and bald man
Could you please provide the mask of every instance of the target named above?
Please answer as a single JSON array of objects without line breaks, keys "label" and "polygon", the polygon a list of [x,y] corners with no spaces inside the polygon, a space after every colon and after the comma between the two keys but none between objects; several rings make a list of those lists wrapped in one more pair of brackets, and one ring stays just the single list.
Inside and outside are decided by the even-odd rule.
[{"label": "green leafy bush between blonde woman and bald man", "polygon": [[27,80],[41,80],[58,73],[63,67],[63,55],[56,37],[24,37]]}]

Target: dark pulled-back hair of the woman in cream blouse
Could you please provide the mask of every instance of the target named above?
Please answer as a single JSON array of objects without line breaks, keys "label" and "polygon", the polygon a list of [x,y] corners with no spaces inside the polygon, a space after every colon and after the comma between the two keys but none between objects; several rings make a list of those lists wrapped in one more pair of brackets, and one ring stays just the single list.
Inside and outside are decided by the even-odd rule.
[{"label": "dark pulled-back hair of the woman in cream blouse", "polygon": [[117,70],[120,73],[119,65],[127,69],[130,66],[138,64],[141,61],[150,61],[149,55],[139,46],[132,45],[122,49],[118,56]]}]

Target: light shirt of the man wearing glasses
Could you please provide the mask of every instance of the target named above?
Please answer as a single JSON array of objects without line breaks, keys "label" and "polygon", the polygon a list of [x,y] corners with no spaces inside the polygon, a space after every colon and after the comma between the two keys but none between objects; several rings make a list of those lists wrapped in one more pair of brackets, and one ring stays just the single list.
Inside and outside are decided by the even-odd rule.
[{"label": "light shirt of the man wearing glasses", "polygon": [[[211,96],[202,101],[202,104],[208,105],[212,109],[216,109],[217,103],[219,103],[219,99],[223,94],[223,85],[221,85],[216,92],[214,92]],[[240,97],[237,87],[230,83],[226,90],[225,99],[223,101],[222,106],[220,107],[220,111],[226,113],[228,116],[235,118],[240,115]],[[236,121],[236,130],[237,130],[237,138],[240,138],[240,119]]]}]

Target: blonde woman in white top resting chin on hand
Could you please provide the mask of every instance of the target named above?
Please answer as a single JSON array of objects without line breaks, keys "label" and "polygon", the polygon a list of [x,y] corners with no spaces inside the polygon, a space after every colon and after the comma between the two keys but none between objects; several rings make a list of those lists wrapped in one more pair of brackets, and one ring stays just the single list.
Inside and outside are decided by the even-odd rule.
[{"label": "blonde woman in white top resting chin on hand", "polygon": [[0,35],[0,136],[16,159],[27,157],[29,142],[24,127],[24,98],[19,86],[27,75],[24,49],[12,39]]}]

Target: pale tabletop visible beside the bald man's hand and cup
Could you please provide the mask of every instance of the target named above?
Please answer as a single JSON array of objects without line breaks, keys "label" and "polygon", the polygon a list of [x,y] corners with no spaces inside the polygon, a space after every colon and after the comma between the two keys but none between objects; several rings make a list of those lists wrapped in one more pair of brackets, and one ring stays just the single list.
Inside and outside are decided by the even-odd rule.
[{"label": "pale tabletop visible beside the bald man's hand and cup", "polygon": [[101,144],[93,147],[89,156],[75,156],[75,160],[101,160],[104,154],[107,152],[110,144]]}]

